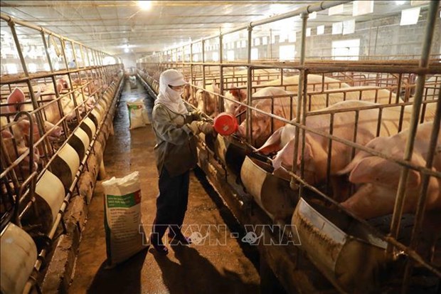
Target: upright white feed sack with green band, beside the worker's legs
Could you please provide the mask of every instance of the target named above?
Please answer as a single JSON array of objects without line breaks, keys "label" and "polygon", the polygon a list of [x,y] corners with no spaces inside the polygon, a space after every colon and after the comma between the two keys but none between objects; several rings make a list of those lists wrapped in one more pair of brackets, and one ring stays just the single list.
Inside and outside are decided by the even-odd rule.
[{"label": "upright white feed sack with green band, beside the worker's legs", "polygon": [[110,268],[147,247],[141,224],[139,172],[102,182],[107,266]]}]

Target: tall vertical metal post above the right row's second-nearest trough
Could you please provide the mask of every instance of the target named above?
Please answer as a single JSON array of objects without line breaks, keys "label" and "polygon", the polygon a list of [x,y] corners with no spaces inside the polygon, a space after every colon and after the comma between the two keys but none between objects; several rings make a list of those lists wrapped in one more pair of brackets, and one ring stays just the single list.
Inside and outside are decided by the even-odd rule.
[{"label": "tall vertical metal post above the right row's second-nearest trough", "polygon": [[[303,13],[302,14],[302,41],[300,43],[300,61],[299,65],[304,65],[304,58],[305,58],[305,46],[306,46],[306,34],[307,34],[307,21],[308,21],[308,14]],[[301,115],[302,115],[302,103],[304,104],[303,107],[303,119],[302,123],[306,123],[306,99],[307,99],[307,93],[305,89],[304,96],[303,94],[303,80],[304,80],[305,71],[302,69],[299,73],[299,83],[298,83],[298,91],[297,91],[297,115],[296,115],[296,122],[300,123]],[[306,80],[306,79],[305,79]],[[305,87],[307,88],[307,87]],[[297,156],[299,154],[299,127],[295,128],[295,137],[294,137],[294,157],[292,162],[292,172],[295,173],[297,170]],[[302,154],[304,152],[304,143],[305,143],[305,132],[302,130]],[[301,162],[301,169],[300,172],[303,174],[303,160]],[[295,179],[292,177],[291,181],[289,182],[289,186],[292,189],[295,189],[297,187],[297,184],[295,182]],[[301,186],[302,187],[302,186]]]}]

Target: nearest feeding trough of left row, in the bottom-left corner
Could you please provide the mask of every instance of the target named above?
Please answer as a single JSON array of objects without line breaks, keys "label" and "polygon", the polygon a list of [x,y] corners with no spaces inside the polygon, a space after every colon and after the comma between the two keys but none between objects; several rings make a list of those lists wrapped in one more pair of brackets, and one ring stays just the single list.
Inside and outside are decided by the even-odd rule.
[{"label": "nearest feeding trough of left row, in the bottom-left corner", "polygon": [[1,293],[23,293],[37,260],[36,244],[13,223],[1,232],[0,243]]}]

